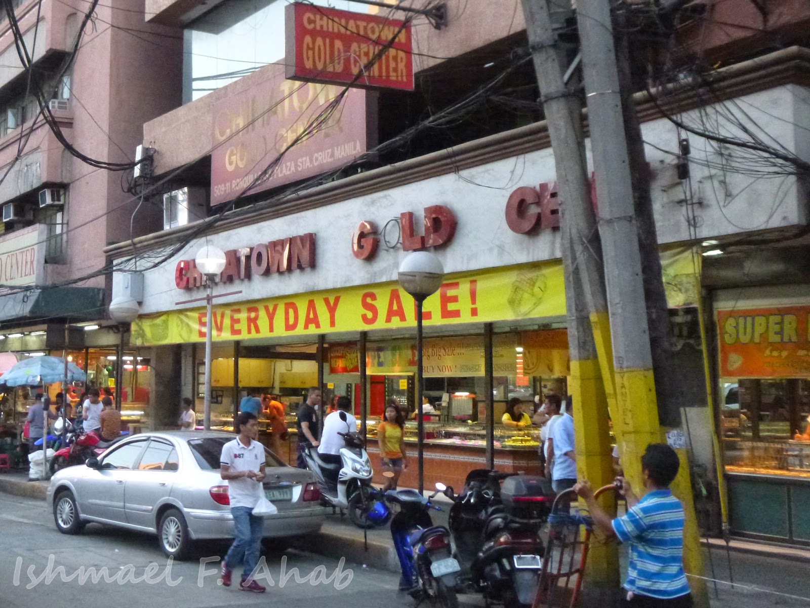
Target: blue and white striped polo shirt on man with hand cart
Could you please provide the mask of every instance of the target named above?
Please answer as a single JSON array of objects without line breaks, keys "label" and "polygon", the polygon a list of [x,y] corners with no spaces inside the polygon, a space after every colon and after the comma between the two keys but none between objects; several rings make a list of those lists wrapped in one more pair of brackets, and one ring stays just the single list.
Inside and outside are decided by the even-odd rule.
[{"label": "blue and white striped polo shirt on man with hand cart", "polygon": [[625,589],[659,599],[689,593],[684,576],[684,507],[670,490],[653,490],[613,520],[621,542],[630,543]]}]

